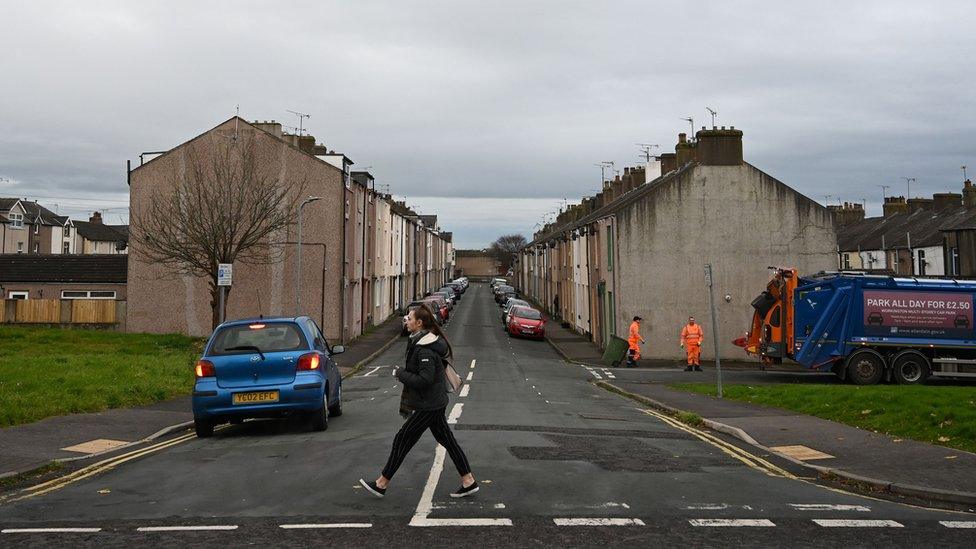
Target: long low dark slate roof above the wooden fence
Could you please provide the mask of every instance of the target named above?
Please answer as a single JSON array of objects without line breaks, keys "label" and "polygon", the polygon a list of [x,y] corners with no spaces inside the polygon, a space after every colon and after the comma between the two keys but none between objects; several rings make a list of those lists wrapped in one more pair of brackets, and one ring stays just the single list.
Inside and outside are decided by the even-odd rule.
[{"label": "long low dark slate roof above the wooden fence", "polygon": [[125,284],[126,255],[0,255],[0,282]]}]

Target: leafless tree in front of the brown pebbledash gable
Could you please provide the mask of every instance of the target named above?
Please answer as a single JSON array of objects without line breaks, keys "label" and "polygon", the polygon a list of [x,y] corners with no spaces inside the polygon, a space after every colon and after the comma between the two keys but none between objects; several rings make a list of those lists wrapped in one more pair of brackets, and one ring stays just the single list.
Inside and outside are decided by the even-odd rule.
[{"label": "leafless tree in front of the brown pebbledash gable", "polygon": [[131,220],[139,253],[177,274],[207,278],[214,328],[218,265],[283,261],[285,247],[272,240],[293,223],[305,188],[304,180],[282,181],[280,161],[259,158],[246,133],[224,139],[187,145],[185,169],[174,170],[170,185],[154,191]]}]

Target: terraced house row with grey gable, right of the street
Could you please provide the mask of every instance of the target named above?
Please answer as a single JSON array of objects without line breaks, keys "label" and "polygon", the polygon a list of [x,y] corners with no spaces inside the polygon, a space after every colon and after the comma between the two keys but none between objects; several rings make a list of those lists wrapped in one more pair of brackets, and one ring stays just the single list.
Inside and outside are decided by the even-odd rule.
[{"label": "terraced house row with grey gable, right of the street", "polygon": [[[742,135],[725,127],[702,128],[694,140],[679,134],[674,153],[626,169],[571,206],[520,254],[523,291],[600,346],[626,337],[641,316],[642,355],[679,359],[688,316],[708,316],[710,263],[718,353],[745,358],[732,340],[749,328],[767,267],[834,268],[837,237],[827,208],[743,160]],[[712,359],[707,337],[702,356]]]}]

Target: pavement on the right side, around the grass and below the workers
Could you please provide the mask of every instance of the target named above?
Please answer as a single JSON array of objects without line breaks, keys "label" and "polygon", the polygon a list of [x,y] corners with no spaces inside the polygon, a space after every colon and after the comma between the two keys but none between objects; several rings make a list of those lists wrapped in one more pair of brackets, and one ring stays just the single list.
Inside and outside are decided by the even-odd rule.
[{"label": "pavement on the right side, around the grass and below the workers", "polygon": [[[714,363],[704,372],[685,372],[675,361],[640,361],[637,368],[606,368],[599,349],[561,327],[547,326],[550,344],[565,359],[577,362],[599,385],[671,413],[690,412],[709,427],[777,454],[820,475],[866,485],[871,490],[962,505],[976,505],[976,454],[851,427],[795,412],[719,399],[668,387],[673,383],[716,383]],[[799,366],[722,362],[724,383],[841,384],[829,373]],[[933,384],[955,382],[933,380]],[[962,384],[971,382],[962,381]],[[829,388],[825,387],[825,390]],[[811,452],[814,451],[814,452]]]}]

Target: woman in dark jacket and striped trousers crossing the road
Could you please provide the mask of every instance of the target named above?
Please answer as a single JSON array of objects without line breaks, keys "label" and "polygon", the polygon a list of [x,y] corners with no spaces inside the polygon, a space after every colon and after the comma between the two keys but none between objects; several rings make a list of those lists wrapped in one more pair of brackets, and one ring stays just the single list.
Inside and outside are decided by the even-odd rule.
[{"label": "woman in dark jacket and striped trousers crossing the road", "polygon": [[393,439],[393,448],[382,474],[374,481],[359,479],[359,483],[374,496],[386,494],[390,479],[396,474],[407,453],[427,429],[443,446],[461,475],[461,487],[451,497],[463,498],[478,491],[478,483],[471,474],[471,466],[464,451],[454,439],[447,425],[447,382],[444,361],[452,356],[451,344],[427,307],[413,307],[407,314],[407,361],[403,368],[395,368],[393,375],[403,383],[400,414],[406,417],[403,427]]}]

